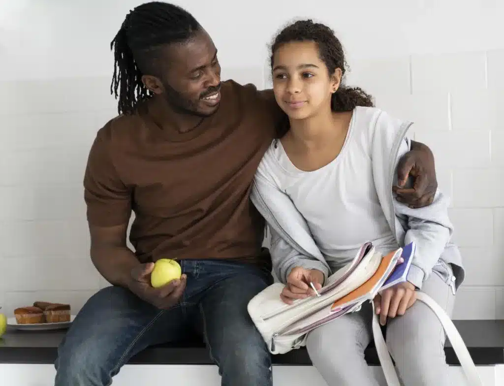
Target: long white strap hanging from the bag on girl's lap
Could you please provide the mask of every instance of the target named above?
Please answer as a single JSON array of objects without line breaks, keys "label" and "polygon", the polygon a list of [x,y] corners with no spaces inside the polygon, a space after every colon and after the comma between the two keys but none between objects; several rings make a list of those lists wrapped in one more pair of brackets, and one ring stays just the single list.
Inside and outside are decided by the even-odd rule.
[{"label": "long white strap hanging from the bag on girl's lap", "polygon": [[[446,335],[452,344],[452,347],[459,358],[460,365],[469,386],[483,386],[483,382],[478,375],[478,371],[474,362],[467,350],[462,337],[460,336],[457,328],[453,324],[453,321],[447,315],[445,310],[439,306],[429,295],[424,292],[417,291],[417,301],[422,301],[425,303],[437,316],[443,328],[445,329]],[[371,302],[372,303],[372,302]],[[401,386],[399,378],[397,376],[394,364],[392,363],[392,358],[390,357],[387,344],[382,334],[382,329],[380,328],[380,323],[378,321],[378,316],[374,310],[373,303],[373,320],[372,320],[372,331],[374,337],[374,344],[376,346],[376,352],[380,358],[380,363],[387,380],[388,386]]]}]

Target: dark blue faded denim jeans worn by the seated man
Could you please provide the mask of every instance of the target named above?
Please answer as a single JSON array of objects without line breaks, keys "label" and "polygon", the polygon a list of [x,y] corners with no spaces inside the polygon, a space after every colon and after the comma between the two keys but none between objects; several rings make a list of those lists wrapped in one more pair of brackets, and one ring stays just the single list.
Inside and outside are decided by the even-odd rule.
[{"label": "dark blue faded denim jeans worn by the seated man", "polygon": [[273,282],[255,266],[182,261],[180,302],[160,310],[111,286],[81,309],[55,362],[55,386],[108,386],[121,366],[148,346],[201,334],[223,386],[271,386],[271,356],[247,312],[248,301]]}]

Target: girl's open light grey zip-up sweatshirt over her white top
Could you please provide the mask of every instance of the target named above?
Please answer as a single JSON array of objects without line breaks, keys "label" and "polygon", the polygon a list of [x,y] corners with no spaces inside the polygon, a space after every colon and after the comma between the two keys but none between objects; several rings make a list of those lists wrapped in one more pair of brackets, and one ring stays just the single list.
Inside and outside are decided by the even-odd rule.
[{"label": "girl's open light grey zip-up sweatshirt over her white top", "polygon": [[[359,122],[368,122],[372,137],[372,170],[376,193],[387,221],[400,246],[411,241],[416,252],[408,274],[408,281],[418,288],[429,277],[436,264],[450,264],[458,288],[465,277],[458,247],[451,242],[453,225],[448,218],[449,199],[439,189],[431,205],[411,209],[394,199],[392,186],[396,184],[396,160],[401,145],[410,141],[406,133],[412,122],[391,117],[377,108],[356,108]],[[275,169],[277,168],[278,169]],[[303,216],[284,193],[280,181],[282,173],[277,160],[266,153],[252,186],[250,198],[266,219],[271,234],[270,252],[273,270],[282,283],[294,267],[317,269],[325,279],[332,274],[322,252],[314,242]],[[367,241],[367,240],[366,240]]]}]

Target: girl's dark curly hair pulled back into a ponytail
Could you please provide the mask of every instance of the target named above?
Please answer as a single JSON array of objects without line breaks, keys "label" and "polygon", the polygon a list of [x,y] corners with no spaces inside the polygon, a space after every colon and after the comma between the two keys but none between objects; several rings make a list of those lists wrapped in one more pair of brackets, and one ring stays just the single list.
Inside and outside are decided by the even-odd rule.
[{"label": "girl's dark curly hair pulled back into a ponytail", "polygon": [[[312,20],[299,20],[285,27],[273,40],[271,45],[271,66],[273,68],[273,55],[283,44],[292,41],[313,41],[319,46],[320,59],[325,63],[329,74],[334,74],[336,69],[341,69],[342,79],[346,72],[346,60],[343,46],[334,31],[321,23]],[[343,82],[342,82],[343,83]],[[341,84],[331,96],[331,109],[333,111],[352,111],[356,106],[373,106],[372,97],[360,87],[346,87]],[[289,130],[289,120],[280,124],[278,135],[281,137]]]}]

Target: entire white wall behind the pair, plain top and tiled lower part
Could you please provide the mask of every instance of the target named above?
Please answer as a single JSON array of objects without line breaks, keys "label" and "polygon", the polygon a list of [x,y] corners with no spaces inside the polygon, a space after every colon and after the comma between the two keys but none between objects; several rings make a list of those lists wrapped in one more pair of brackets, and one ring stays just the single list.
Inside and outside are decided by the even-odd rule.
[{"label": "entire white wall behind the pair, plain top and tiled lower part", "polygon": [[[0,305],[8,313],[35,300],[70,302],[77,311],[107,285],[89,260],[82,177],[96,131],[116,111],[107,44],[124,13],[140,3],[106,0],[102,11],[109,15],[97,17],[90,31],[86,18],[71,15],[91,15],[86,2],[44,2],[28,14],[18,7],[2,19],[12,10],[0,12],[6,22],[0,28],[10,33],[0,36],[0,61],[7,66],[0,75]],[[365,2],[372,17],[350,3],[325,0],[314,0],[309,16],[342,37],[348,84],[413,120],[410,135],[434,151],[467,268],[455,317],[504,318],[504,124],[497,115],[504,105],[504,41],[497,38],[504,26],[497,15],[504,9],[496,2],[469,8]],[[230,40],[229,27],[218,20],[225,7],[239,11],[224,0],[212,7],[193,3],[188,7],[215,38],[223,78],[259,87],[270,84],[267,42],[286,20],[305,14],[304,6],[258,0]],[[355,23],[346,13],[364,19]],[[23,15],[44,21],[43,28],[23,23]],[[363,32],[370,30],[371,39]],[[33,49],[19,48],[16,33]],[[76,46],[75,34],[86,43]]]}]

